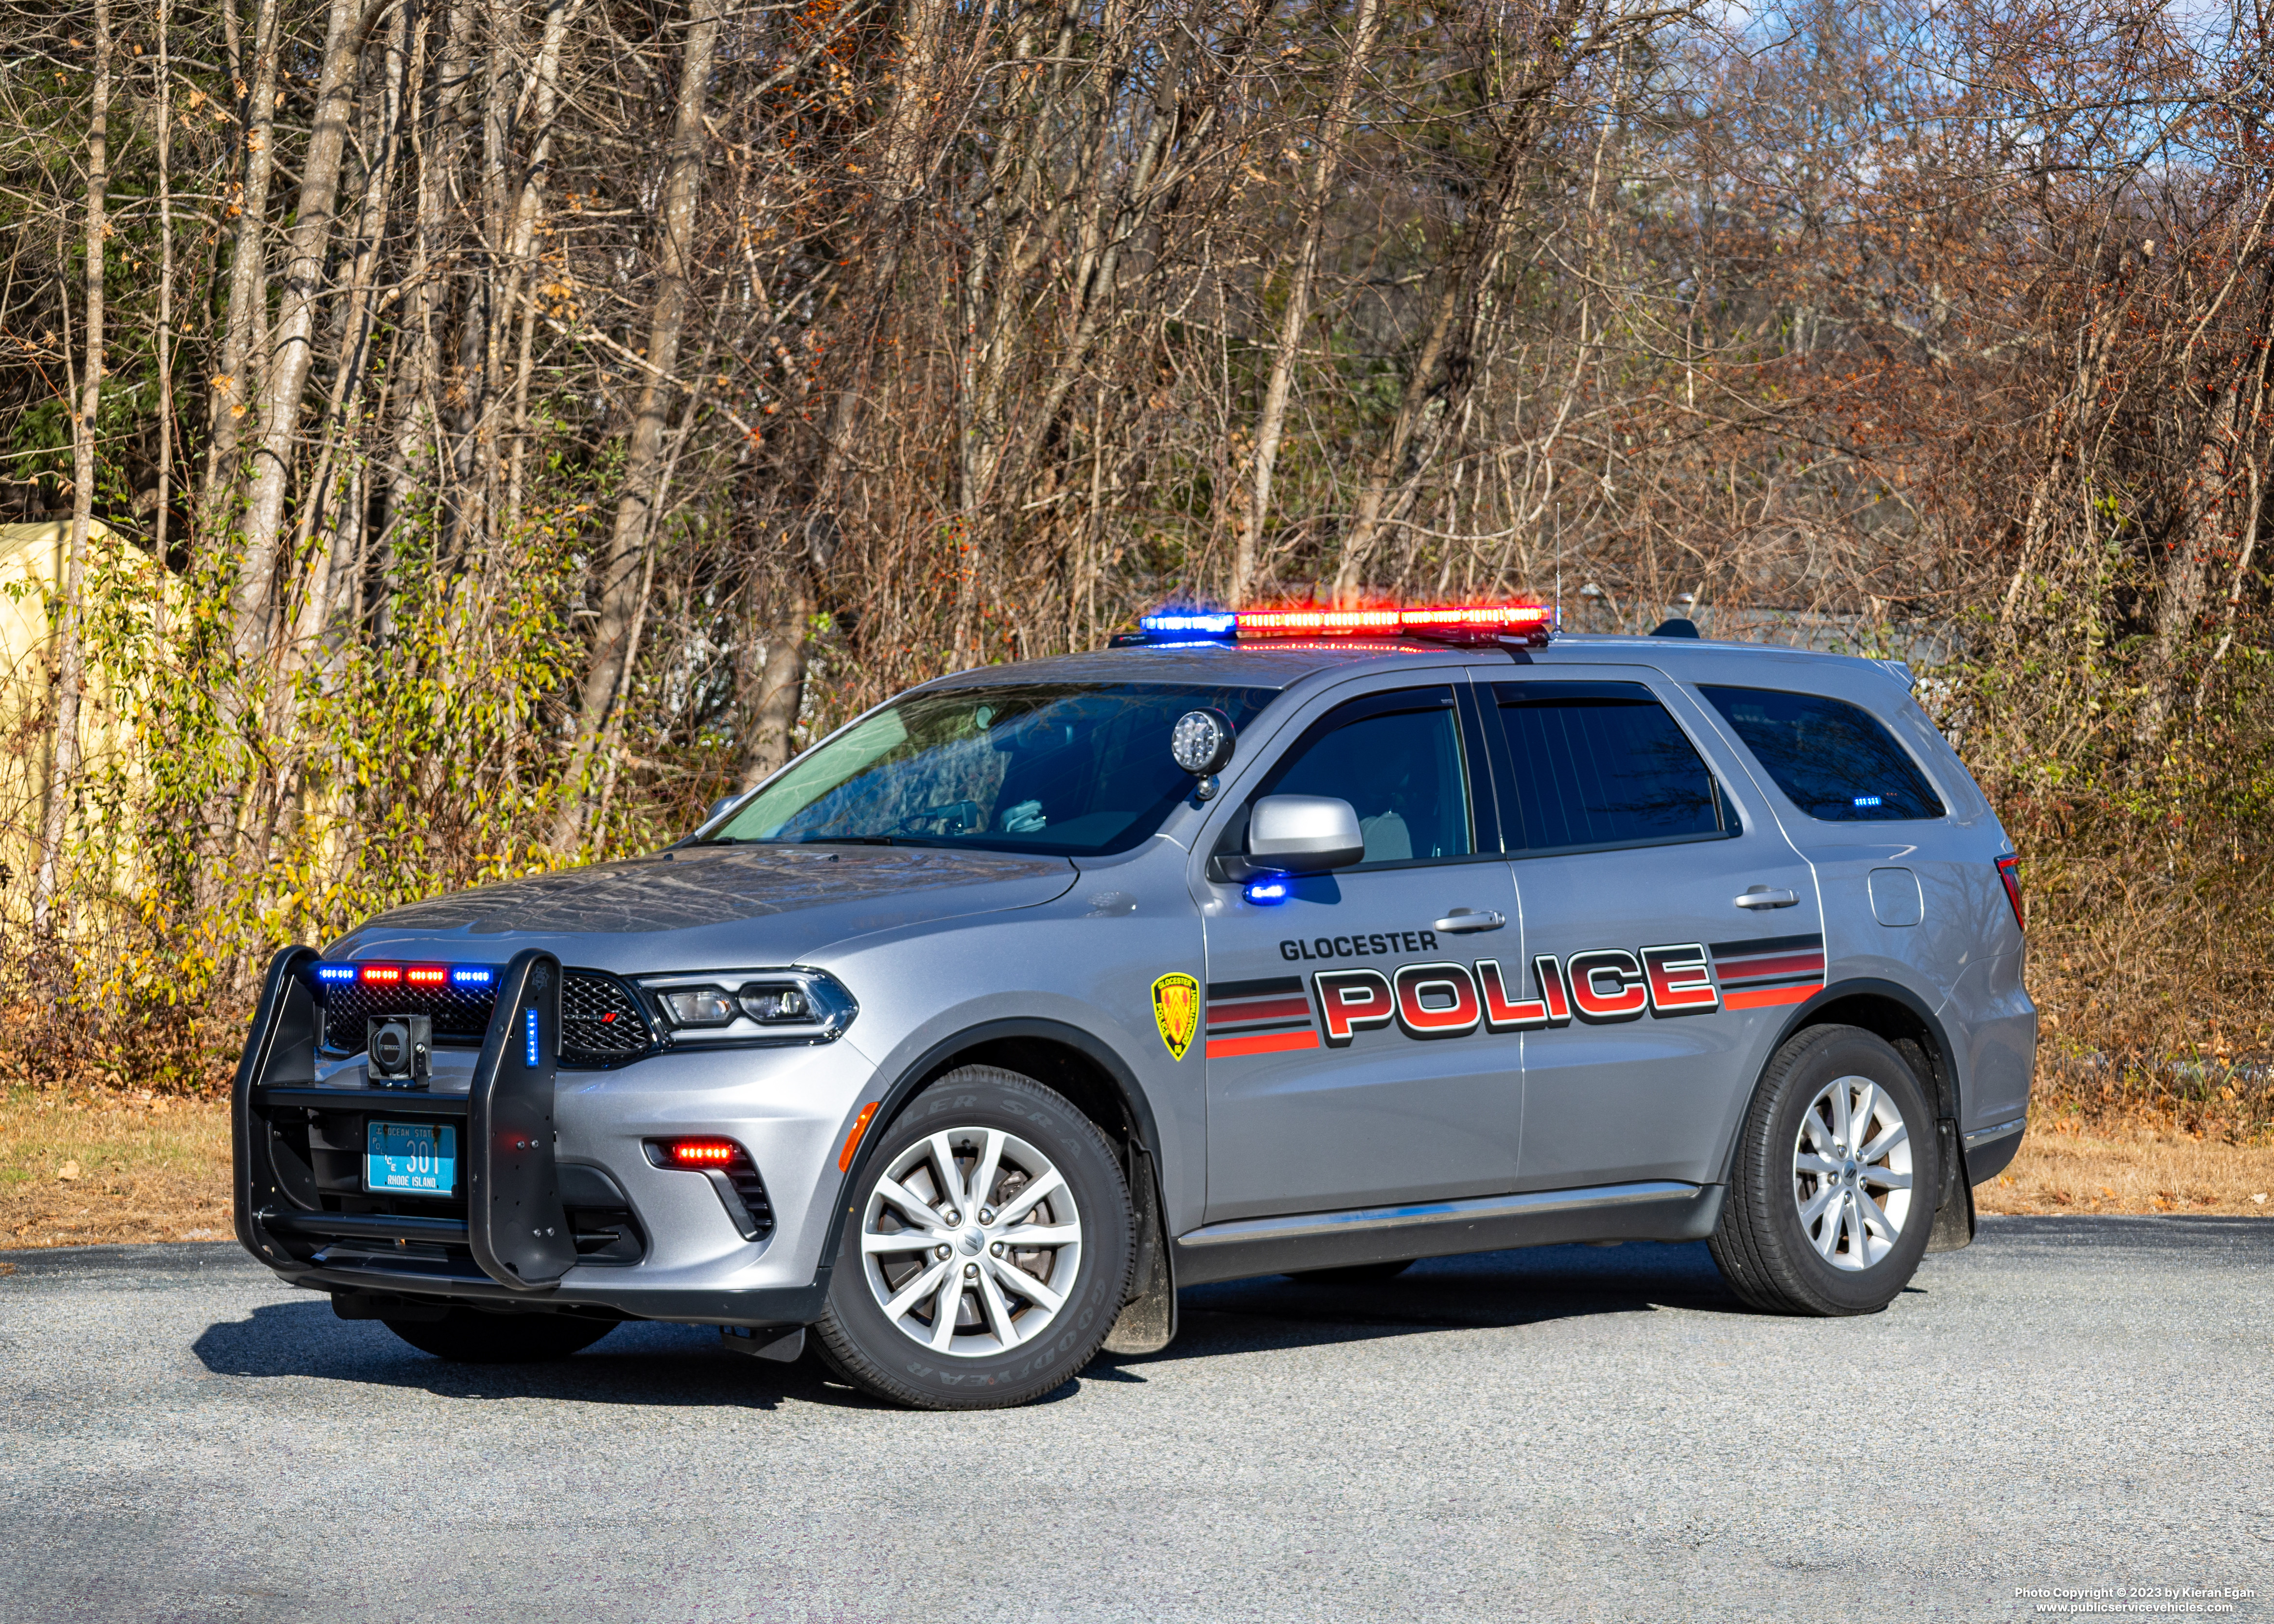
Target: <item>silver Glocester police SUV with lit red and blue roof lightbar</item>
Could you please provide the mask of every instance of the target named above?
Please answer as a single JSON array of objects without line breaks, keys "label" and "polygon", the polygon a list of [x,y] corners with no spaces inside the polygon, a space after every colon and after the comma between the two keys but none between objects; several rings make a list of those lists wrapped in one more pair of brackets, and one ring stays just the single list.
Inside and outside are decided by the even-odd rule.
[{"label": "silver Glocester police SUV with lit red and blue roof lightbar", "polygon": [[1180,1285],[1499,1246],[1858,1315],[2019,1144],[2022,955],[1901,666],[1162,614],[277,953],[236,1233],[443,1358],[662,1319],[930,1408],[1160,1349]]}]

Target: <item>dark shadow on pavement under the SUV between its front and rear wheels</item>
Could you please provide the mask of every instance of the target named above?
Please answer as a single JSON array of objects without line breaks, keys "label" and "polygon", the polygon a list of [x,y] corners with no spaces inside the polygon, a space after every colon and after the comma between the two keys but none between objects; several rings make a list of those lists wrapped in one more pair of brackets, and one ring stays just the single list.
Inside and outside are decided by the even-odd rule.
[{"label": "dark shadow on pavement under the SUV between its front and rear wheels", "polygon": [[1528,1246],[1424,1258],[1405,1274],[1360,1285],[1271,1274],[1192,1285],[1176,1294],[1176,1342],[1160,1353],[1098,1360],[1089,1376],[1142,1381],[1137,1369],[1162,1360],[1428,1331],[1503,1331],[1655,1308],[1753,1312],[1721,1283],[1703,1242]]}]

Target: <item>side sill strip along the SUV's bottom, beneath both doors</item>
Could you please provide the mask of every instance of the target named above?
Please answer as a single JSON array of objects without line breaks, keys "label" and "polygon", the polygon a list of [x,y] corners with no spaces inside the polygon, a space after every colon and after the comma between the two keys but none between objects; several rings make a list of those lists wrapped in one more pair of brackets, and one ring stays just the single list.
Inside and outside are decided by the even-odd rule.
[{"label": "side sill strip along the SUV's bottom, beneath both doors", "polygon": [[1233,1219],[1178,1235],[1176,1283],[1574,1240],[1706,1240],[1721,1219],[1721,1185],[1653,1180]]}]

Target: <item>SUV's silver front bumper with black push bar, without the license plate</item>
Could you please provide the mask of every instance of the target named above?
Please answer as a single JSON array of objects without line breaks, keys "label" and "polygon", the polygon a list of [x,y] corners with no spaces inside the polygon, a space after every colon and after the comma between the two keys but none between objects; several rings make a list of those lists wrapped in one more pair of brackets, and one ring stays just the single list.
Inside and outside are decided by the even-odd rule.
[{"label": "SUV's silver front bumper with black push bar, without the license plate", "polygon": [[[321,1064],[309,958],[291,948],[271,964],[234,1089],[236,1235],[280,1278],[416,1303],[682,1324],[819,1317],[835,1151],[871,1076],[850,1044],[682,1051],[566,1074],[555,1074],[548,1046],[543,1076],[518,1083],[514,1119],[500,1108],[514,1078],[500,1083],[500,1071],[523,1058],[525,1010],[500,999],[480,1060],[437,1051],[430,1087],[375,1089],[359,1062]],[[457,1124],[459,1190],[366,1192],[371,1119]],[[650,1162],[648,1142],[680,1135],[746,1146],[764,1180],[753,1196],[760,1221],[721,1199],[714,1178]],[[550,1235],[537,1253],[514,1251],[521,1231]]]}]

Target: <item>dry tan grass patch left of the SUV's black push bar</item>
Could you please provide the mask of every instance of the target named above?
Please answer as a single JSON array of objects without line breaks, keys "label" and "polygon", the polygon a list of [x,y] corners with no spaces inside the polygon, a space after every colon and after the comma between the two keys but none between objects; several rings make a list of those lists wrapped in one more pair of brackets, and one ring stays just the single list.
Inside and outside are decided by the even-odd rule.
[{"label": "dry tan grass patch left of the SUV's black push bar", "polygon": [[227,1101],[0,1099],[0,1249],[232,1233]]}]

